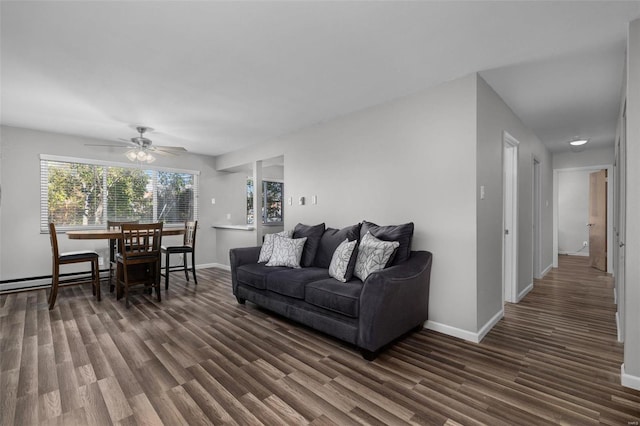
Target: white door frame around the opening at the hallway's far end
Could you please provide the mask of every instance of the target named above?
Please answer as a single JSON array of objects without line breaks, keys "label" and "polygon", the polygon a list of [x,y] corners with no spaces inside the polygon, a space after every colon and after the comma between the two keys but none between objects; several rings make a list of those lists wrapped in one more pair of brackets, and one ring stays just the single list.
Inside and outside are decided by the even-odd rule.
[{"label": "white door frame around the opening at the hallway's far end", "polygon": [[[553,267],[558,267],[558,176],[562,172],[607,170],[607,271],[613,271],[613,164],[553,169]],[[586,223],[585,223],[586,226]]]}]

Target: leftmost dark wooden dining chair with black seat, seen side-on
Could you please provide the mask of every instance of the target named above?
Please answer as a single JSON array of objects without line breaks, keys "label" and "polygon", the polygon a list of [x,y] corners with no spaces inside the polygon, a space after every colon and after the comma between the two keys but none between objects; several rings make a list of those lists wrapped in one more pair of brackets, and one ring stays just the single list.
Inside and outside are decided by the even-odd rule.
[{"label": "leftmost dark wooden dining chair with black seat, seen side-on", "polygon": [[91,262],[91,286],[93,295],[100,301],[100,269],[98,266],[98,253],[91,250],[80,250],[60,253],[58,249],[58,235],[56,234],[56,225],[49,223],[49,238],[51,239],[51,291],[49,292],[49,310],[53,309],[58,297],[58,287],[61,284],[83,284],[86,280],[71,279],[60,281],[60,265],[71,263]]}]

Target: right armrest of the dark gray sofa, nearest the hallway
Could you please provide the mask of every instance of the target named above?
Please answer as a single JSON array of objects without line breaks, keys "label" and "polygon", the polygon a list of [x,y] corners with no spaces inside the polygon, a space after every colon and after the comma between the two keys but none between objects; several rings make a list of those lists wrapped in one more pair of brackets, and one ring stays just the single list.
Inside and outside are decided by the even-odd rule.
[{"label": "right armrest of the dark gray sofa, nearest the hallway", "polygon": [[376,352],[429,315],[432,254],[412,251],[406,262],[369,275],[360,294],[358,346]]}]

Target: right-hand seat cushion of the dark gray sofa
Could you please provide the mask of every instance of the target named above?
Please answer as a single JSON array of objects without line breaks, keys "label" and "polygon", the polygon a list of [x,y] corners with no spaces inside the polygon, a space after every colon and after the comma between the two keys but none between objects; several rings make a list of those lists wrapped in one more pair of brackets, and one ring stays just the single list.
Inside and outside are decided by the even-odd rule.
[{"label": "right-hand seat cushion of the dark gray sofa", "polygon": [[314,281],[307,284],[304,300],[312,305],[358,318],[362,286],[362,282],[358,280],[346,283],[334,278]]}]

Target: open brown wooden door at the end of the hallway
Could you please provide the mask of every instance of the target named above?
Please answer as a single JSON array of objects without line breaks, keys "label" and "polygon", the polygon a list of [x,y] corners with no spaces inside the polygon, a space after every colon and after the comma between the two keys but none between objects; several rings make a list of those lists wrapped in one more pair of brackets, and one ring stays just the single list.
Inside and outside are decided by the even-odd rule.
[{"label": "open brown wooden door at the end of the hallway", "polygon": [[607,171],[589,174],[589,265],[607,271]]}]

